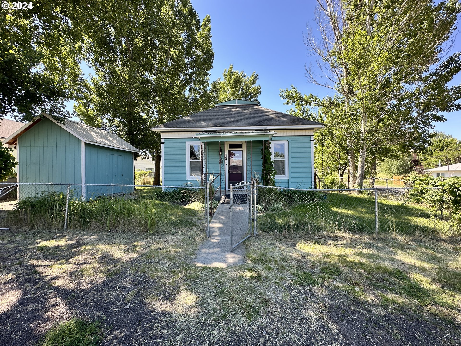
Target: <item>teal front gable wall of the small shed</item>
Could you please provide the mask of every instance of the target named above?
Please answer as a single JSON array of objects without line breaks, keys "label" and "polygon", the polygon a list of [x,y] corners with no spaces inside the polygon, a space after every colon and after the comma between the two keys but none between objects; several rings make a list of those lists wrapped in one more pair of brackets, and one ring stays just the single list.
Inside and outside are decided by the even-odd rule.
[{"label": "teal front gable wall of the small shed", "polygon": [[[18,137],[21,183],[75,183],[82,181],[81,144],[77,137],[49,119],[43,119]],[[73,190],[78,189],[72,187]],[[20,198],[41,191],[66,191],[65,185],[23,185]],[[78,191],[74,191],[79,194]]]}]

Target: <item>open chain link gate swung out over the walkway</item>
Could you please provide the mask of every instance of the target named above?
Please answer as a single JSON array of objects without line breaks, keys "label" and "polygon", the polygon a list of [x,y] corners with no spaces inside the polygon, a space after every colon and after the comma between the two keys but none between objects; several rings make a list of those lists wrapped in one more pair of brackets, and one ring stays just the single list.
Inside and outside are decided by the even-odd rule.
[{"label": "open chain link gate swung out over the walkway", "polygon": [[256,235],[253,219],[256,184],[251,182],[235,186],[231,185],[230,188],[230,251],[233,251],[245,240]]}]

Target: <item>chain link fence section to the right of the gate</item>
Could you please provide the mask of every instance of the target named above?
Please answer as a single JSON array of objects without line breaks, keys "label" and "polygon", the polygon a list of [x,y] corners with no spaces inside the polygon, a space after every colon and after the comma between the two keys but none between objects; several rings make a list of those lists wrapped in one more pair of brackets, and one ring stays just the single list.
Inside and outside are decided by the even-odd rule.
[{"label": "chain link fence section to the right of the gate", "polygon": [[411,188],[303,190],[258,185],[261,232],[431,234],[459,237],[449,208],[416,203]]}]

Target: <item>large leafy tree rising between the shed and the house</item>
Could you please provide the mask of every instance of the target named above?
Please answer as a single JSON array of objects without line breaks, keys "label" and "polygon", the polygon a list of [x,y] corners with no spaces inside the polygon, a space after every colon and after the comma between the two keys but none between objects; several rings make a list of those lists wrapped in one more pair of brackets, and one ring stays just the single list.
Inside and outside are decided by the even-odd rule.
[{"label": "large leafy tree rising between the shed and the house", "polygon": [[111,1],[87,26],[85,59],[95,76],[76,112],[152,155],[154,184],[161,154],[151,128],[200,109],[214,57],[210,27],[188,0]]}]

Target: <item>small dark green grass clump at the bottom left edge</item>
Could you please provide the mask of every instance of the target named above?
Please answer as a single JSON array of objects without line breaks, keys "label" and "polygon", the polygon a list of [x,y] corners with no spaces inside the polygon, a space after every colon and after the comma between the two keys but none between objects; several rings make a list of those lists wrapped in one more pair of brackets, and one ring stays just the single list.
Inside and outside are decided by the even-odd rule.
[{"label": "small dark green grass clump at the bottom left edge", "polygon": [[85,322],[73,318],[51,328],[38,342],[38,346],[97,346],[102,341],[100,322]]}]

